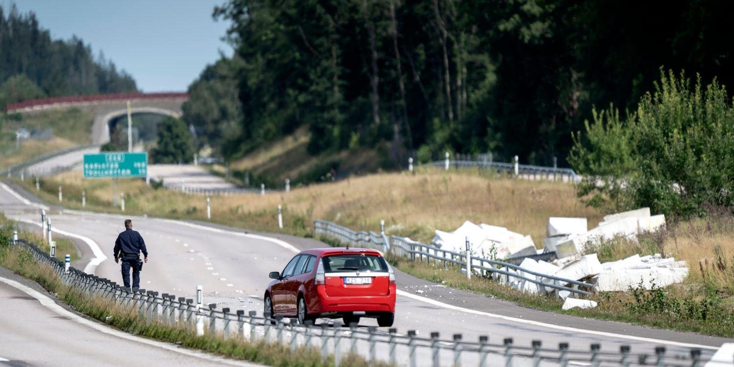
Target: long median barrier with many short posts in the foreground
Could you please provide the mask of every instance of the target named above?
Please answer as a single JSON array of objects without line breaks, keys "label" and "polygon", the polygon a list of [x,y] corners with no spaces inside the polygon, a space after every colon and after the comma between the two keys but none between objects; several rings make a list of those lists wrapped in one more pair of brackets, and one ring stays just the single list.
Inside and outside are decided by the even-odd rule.
[{"label": "long median barrier with many short posts in the foreground", "polygon": [[[570,349],[568,343],[560,343],[558,349],[543,347],[539,340],[531,346],[513,344],[512,338],[504,338],[501,343],[490,341],[488,335],[479,336],[478,341],[465,341],[462,334],[454,334],[451,339],[441,339],[439,333],[421,337],[416,330],[400,334],[395,328],[388,332],[377,327],[358,327],[341,322],[333,324],[294,324],[289,319],[250,310],[231,312],[229,308],[217,308],[216,304],[197,305],[194,299],[175,297],[173,294],[159,294],[157,291],[119,286],[112,280],[96,277],[73,267],[65,267],[64,262],[51,257],[37,246],[27,241],[15,241],[15,245],[27,250],[37,262],[51,266],[62,282],[92,297],[101,297],[115,302],[120,308],[139,313],[147,325],[159,324],[164,327],[189,330],[197,335],[218,335],[224,339],[241,338],[251,343],[277,343],[291,352],[299,348],[319,349],[321,359],[330,360],[340,366],[349,353],[366,356],[369,366],[377,362],[377,355],[387,357],[386,362],[393,366],[397,363],[407,366],[490,366],[513,363],[539,366],[551,364],[567,367],[570,365],[589,366],[631,366],[656,363],[657,366],[701,366],[705,360],[700,349],[690,349],[687,355],[666,355],[664,346],[655,348],[654,354],[631,352],[629,345],[622,345],[619,352],[601,351],[600,344],[591,344],[590,349]],[[498,339],[499,341],[499,339]],[[430,361],[430,362],[429,362]]]}]

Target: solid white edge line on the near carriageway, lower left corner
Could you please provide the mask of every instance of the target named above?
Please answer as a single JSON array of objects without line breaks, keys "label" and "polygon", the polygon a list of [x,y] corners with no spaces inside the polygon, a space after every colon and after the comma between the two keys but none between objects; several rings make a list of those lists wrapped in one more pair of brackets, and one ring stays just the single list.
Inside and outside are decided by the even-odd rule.
[{"label": "solid white edge line on the near carriageway, lower left corner", "polygon": [[188,355],[189,357],[197,357],[197,358],[201,358],[204,360],[210,360],[212,362],[225,363],[230,366],[242,366],[242,367],[256,367],[256,366],[261,367],[262,366],[262,365],[255,364],[255,363],[247,363],[247,362],[243,362],[239,360],[230,360],[228,358],[218,357],[216,355],[209,355],[207,353],[198,352],[192,349],[184,349],[179,346],[175,346],[173,344],[164,343],[162,341],[153,341],[153,340],[146,339],[146,338],[139,338],[137,336],[130,335],[123,331],[112,329],[112,327],[106,327],[94,321],[84,319],[83,317],[77,315],[76,313],[72,313],[69,310],[66,310],[65,308],[62,308],[61,306],[57,305],[53,299],[48,298],[46,295],[40,294],[35,289],[30,288],[29,286],[25,286],[21,283],[18,283],[15,280],[10,280],[5,277],[0,277],[0,282],[5,283],[8,286],[17,288],[19,291],[23,291],[23,293],[26,293],[29,296],[37,299],[41,303],[41,305],[46,306],[46,308],[54,311],[54,313],[57,313],[60,316],[67,317],[68,319],[76,321],[78,324],[82,324],[84,326],[91,327],[94,330],[98,330],[102,333],[116,336],[117,338],[127,339],[128,341],[136,341],[141,344],[148,344],[149,346],[156,346],[161,349],[169,350],[171,352],[177,352],[177,353],[181,353],[182,355]]}]

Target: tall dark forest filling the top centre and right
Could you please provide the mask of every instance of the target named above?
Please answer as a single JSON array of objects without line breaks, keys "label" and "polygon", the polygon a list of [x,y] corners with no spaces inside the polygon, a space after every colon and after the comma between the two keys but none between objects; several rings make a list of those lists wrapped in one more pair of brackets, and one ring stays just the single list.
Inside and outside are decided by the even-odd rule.
[{"label": "tall dark forest filling the top centre and right", "polygon": [[[443,150],[503,160],[517,154],[532,164],[557,156],[564,164],[572,133],[593,107],[635,109],[661,67],[733,81],[732,7],[709,0],[230,0],[214,17],[232,22],[236,60],[218,62],[195,84],[209,98],[197,115],[210,109],[225,112],[228,124],[239,120],[229,156],[308,126],[313,154],[382,146],[397,164]],[[214,90],[237,92],[239,110],[224,106],[227,98],[218,103]]]}]

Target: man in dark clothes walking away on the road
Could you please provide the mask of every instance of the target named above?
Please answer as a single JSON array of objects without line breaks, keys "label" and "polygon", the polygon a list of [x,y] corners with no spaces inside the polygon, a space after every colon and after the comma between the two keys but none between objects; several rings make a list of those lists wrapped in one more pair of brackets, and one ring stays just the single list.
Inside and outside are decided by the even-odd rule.
[{"label": "man in dark clothes walking away on the road", "polygon": [[148,250],[145,249],[145,241],[137,230],[133,230],[133,221],[125,219],[125,231],[117,235],[115,241],[115,263],[120,264],[120,260],[123,261],[123,283],[127,288],[130,288],[130,269],[133,269],[133,291],[140,288],[140,252],[147,263]]}]

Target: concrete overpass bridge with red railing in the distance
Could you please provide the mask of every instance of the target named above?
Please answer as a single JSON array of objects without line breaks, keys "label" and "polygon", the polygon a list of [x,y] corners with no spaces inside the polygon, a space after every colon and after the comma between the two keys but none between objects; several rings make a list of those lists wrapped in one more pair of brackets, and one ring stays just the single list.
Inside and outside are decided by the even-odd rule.
[{"label": "concrete overpass bridge with red railing in the distance", "polygon": [[152,113],[181,117],[181,105],[189,99],[185,92],[163,93],[114,93],[106,95],[76,95],[71,97],[42,98],[10,103],[7,112],[34,113],[48,109],[79,107],[94,113],[92,145],[109,142],[109,123],[127,115],[127,101],[131,102],[132,113]]}]

